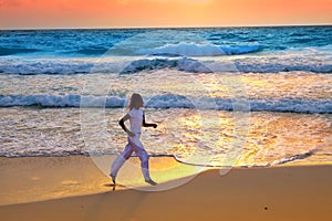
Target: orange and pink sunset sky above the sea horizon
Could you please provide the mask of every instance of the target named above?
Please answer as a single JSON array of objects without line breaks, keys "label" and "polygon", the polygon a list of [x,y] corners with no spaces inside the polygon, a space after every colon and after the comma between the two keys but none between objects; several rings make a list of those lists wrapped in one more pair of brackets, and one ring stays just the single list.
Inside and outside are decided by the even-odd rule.
[{"label": "orange and pink sunset sky above the sea horizon", "polygon": [[0,0],[0,29],[331,24],[332,0]]}]

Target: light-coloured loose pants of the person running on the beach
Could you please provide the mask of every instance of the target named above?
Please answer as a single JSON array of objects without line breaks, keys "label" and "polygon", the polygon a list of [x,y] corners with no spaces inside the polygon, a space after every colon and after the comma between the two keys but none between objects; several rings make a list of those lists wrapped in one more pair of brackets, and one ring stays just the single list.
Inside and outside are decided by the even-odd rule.
[{"label": "light-coloured loose pants of the person running on the beach", "polygon": [[144,146],[139,139],[141,134],[136,134],[135,137],[128,137],[128,144],[124,148],[123,152],[113,161],[111,167],[111,175],[117,176],[120,168],[132,156],[133,151],[138,156],[141,160],[142,172],[145,180],[151,180],[148,172],[148,155],[144,149]]}]

